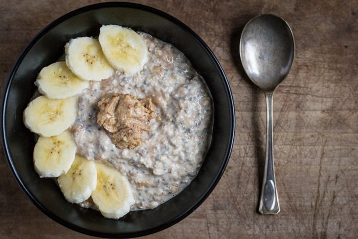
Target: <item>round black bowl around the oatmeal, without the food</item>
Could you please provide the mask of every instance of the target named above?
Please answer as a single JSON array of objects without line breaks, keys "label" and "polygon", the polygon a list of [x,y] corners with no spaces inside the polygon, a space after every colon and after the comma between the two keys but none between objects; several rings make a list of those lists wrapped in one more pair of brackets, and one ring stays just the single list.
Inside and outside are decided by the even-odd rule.
[{"label": "round black bowl around the oatmeal, without the food", "polygon": [[[120,220],[67,202],[52,179],[33,169],[36,138],[23,124],[23,111],[35,91],[40,69],[55,62],[65,43],[78,36],[96,36],[103,24],[147,32],[182,51],[201,74],[214,104],[213,137],[197,177],[180,194],[158,208],[132,211]],[[159,10],[129,3],[102,3],[70,12],[41,30],[11,70],[2,101],[4,153],[14,178],[31,201],[56,222],[100,237],[136,237],[163,230],[193,212],[212,192],[229,161],[235,130],[234,104],[228,80],[214,54],[181,21]]]}]

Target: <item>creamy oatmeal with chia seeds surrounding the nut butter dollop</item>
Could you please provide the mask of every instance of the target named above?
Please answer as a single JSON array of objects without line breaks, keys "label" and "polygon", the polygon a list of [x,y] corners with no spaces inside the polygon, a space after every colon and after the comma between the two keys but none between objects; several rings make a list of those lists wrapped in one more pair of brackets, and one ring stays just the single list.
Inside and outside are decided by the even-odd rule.
[{"label": "creamy oatmeal with chia seeds surrounding the nut butter dollop", "polygon": [[[149,34],[140,35],[149,51],[143,70],[132,76],[116,72],[108,79],[91,81],[79,96],[71,127],[78,154],[106,161],[128,178],[136,200],[131,210],[155,208],[193,180],[208,150],[213,113],[206,85],[184,54]],[[152,116],[143,103],[149,111],[145,123],[137,127],[120,124],[108,132],[103,123],[97,123],[97,104],[108,94],[150,99]],[[136,141],[138,130],[141,142]],[[111,134],[119,133],[119,141],[132,134],[133,144],[116,147]]]}]

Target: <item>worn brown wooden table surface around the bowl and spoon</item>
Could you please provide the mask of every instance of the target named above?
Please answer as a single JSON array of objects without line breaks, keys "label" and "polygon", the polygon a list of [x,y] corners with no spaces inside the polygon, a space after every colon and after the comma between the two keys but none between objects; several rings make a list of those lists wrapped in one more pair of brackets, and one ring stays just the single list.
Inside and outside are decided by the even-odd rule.
[{"label": "worn brown wooden table surface around the bowl and spoon", "polygon": [[[0,86],[32,37],[95,0],[0,0]],[[192,28],[217,56],[236,109],[235,144],[221,181],[186,219],[145,238],[353,238],[358,236],[358,2],[133,1]],[[261,13],[292,27],[296,57],[275,91],[274,150],[281,212],[257,212],[265,151],[265,100],[243,73],[243,26]],[[1,238],[91,238],[44,215],[0,160]]]}]

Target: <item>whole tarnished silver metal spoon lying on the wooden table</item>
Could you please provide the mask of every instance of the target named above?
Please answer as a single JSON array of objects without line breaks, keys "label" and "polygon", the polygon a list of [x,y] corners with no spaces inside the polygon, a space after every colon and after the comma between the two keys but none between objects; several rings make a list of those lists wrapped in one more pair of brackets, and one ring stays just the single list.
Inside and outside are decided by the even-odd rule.
[{"label": "whole tarnished silver metal spoon lying on the wooden table", "polygon": [[263,14],[249,21],[242,30],[240,58],[249,78],[265,93],[267,111],[266,156],[259,212],[277,214],[278,202],[272,137],[274,90],[288,75],[295,55],[295,40],[285,20]]}]

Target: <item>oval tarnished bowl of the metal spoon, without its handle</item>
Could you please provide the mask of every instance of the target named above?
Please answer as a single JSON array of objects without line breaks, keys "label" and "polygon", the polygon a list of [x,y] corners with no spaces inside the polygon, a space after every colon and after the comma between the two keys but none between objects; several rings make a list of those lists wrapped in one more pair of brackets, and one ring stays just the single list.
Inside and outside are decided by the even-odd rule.
[{"label": "oval tarnished bowl of the metal spoon, without its handle", "polygon": [[240,39],[240,58],[249,78],[265,92],[272,92],[292,66],[295,41],[282,18],[264,14],[249,21]]}]

